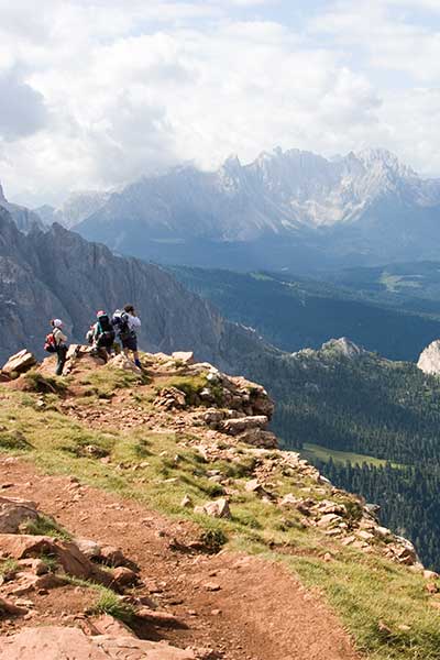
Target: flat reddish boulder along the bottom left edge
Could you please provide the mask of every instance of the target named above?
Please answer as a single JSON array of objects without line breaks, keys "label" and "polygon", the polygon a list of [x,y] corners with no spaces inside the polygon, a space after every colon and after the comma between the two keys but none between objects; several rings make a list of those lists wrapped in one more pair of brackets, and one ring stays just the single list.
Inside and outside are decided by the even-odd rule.
[{"label": "flat reddish boulder along the bottom left edge", "polygon": [[0,638],[0,660],[198,660],[197,651],[131,635],[87,637],[79,628],[22,628]]}]

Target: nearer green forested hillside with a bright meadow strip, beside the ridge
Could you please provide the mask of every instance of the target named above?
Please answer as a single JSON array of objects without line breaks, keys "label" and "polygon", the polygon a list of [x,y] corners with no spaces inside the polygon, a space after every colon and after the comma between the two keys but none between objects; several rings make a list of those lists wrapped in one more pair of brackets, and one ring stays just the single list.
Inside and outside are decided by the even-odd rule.
[{"label": "nearer green forested hillside with a bright meadow strip, beside the ridge", "polygon": [[[267,354],[248,373],[277,400],[274,428],[285,446],[307,444],[307,457],[334,483],[380,504],[383,524],[405,531],[439,569],[440,380],[345,340]],[[339,462],[332,450],[343,452]]]}]

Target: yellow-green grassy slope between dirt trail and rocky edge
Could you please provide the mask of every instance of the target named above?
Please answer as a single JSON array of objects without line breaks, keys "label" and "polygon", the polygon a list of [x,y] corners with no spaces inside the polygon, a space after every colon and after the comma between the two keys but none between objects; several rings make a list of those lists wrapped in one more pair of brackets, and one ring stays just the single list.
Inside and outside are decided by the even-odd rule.
[{"label": "yellow-green grassy slope between dirt trail and rocky edge", "polygon": [[[108,405],[100,398],[108,383],[101,375],[92,375],[91,381],[95,392],[86,397],[89,405]],[[116,384],[127,385],[125,376],[113,376],[113,387]],[[432,597],[422,578],[372,554],[343,548],[318,530],[304,530],[299,520],[286,527],[277,507],[268,507],[244,491],[252,472],[249,449],[243,447],[233,462],[206,463],[194,448],[185,447],[184,435],[143,429],[95,431],[61,414],[56,395],[44,395],[44,407],[38,398],[41,395],[9,392],[0,399],[0,428],[6,429],[0,431],[0,444],[8,436],[4,451],[25,457],[44,473],[74,474],[161,513],[190,518],[215,541],[228,538],[233,549],[284,562],[305,584],[324,594],[369,658],[438,658],[440,614],[429,604]],[[139,398],[140,405],[151,406],[148,397]],[[14,437],[19,444],[15,450]],[[23,437],[32,447],[22,449]],[[89,446],[108,453],[110,463],[90,457],[85,450]],[[186,493],[195,504],[219,495],[219,486],[208,479],[207,471],[212,469],[237,480],[232,520],[195,515],[179,505]],[[308,483],[298,486],[282,473],[274,474],[273,481],[280,494],[312,487]],[[326,552],[334,560],[324,561]]]}]

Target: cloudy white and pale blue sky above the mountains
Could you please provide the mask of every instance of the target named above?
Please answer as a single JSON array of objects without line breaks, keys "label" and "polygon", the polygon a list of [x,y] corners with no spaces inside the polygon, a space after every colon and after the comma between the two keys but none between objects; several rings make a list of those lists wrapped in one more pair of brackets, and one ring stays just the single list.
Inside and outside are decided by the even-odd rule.
[{"label": "cloudy white and pale blue sky above the mountains", "polygon": [[0,0],[0,182],[57,206],[276,146],[439,176],[439,84],[440,0]]}]

